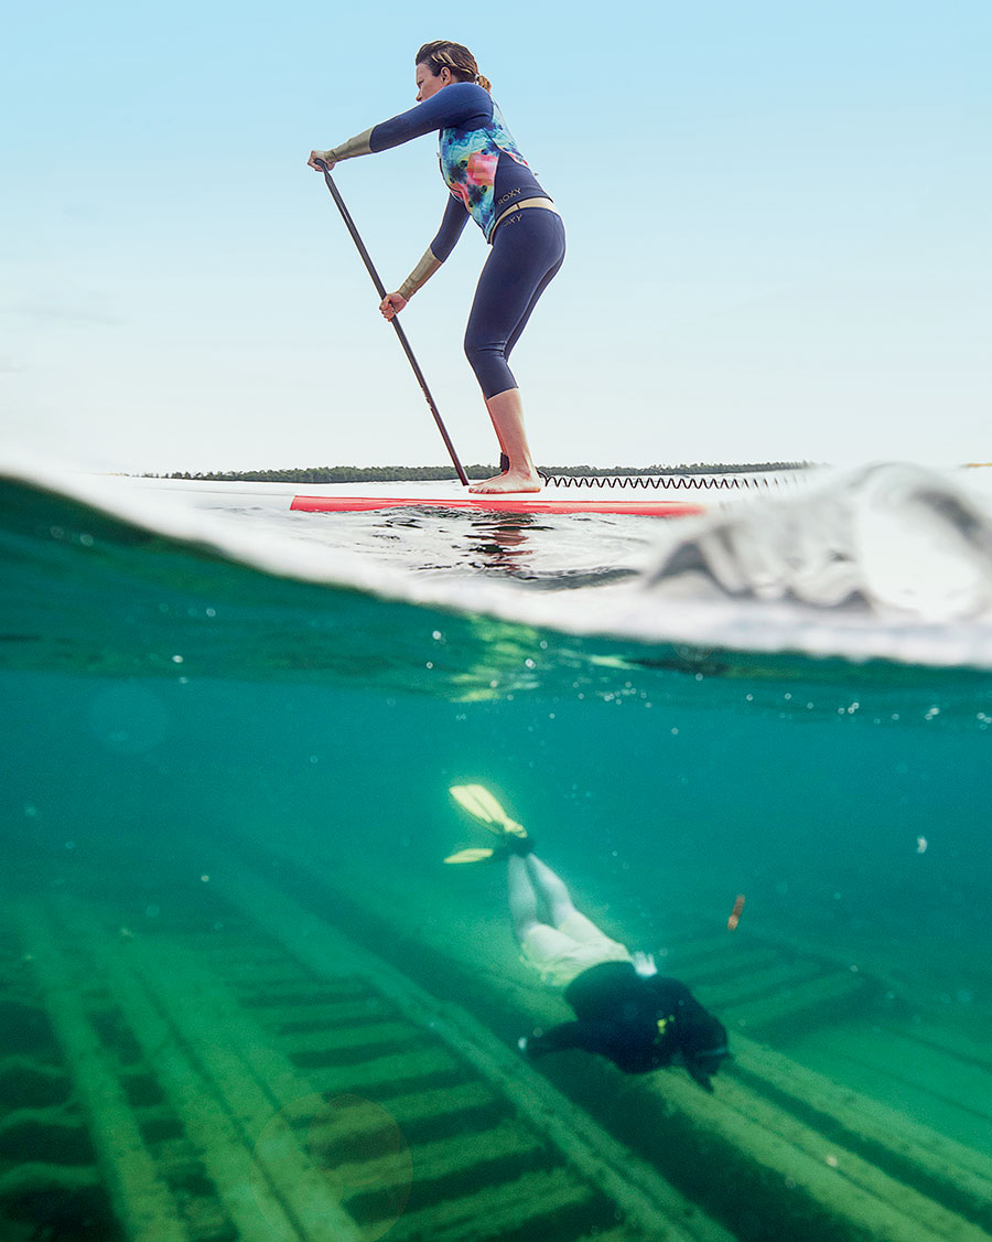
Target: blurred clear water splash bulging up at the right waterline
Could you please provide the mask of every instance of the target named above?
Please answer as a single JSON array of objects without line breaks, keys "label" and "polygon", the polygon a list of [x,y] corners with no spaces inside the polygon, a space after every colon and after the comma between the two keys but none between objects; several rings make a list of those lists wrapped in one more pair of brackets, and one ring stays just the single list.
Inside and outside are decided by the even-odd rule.
[{"label": "blurred clear water splash bulging up at the right waterline", "polygon": [[885,620],[992,621],[992,507],[934,471],[870,466],[798,498],[703,519],[647,581],[680,597],[715,587]]}]

